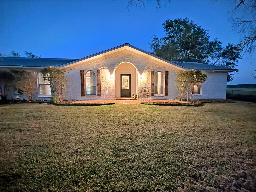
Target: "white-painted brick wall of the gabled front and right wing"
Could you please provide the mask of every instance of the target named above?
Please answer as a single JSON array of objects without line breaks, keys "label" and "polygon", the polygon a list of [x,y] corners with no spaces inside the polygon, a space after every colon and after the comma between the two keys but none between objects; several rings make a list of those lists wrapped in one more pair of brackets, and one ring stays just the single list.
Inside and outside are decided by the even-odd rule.
[{"label": "white-painted brick wall of the gabled front and right wing", "polygon": [[[149,99],[176,99],[179,95],[179,92],[174,85],[174,70],[140,57],[124,53],[67,71],[67,91],[64,98],[68,100],[114,100],[115,69],[120,63],[123,62],[132,63],[135,66],[137,73],[142,74],[142,80],[139,80],[139,78],[137,80],[136,91],[139,96],[142,88],[148,88],[148,95],[150,95],[151,71],[154,71],[155,73],[160,71],[163,72],[164,75],[165,71],[169,71],[169,85],[168,96],[149,96]],[[97,73],[97,70],[101,70],[101,96],[81,97],[80,70],[84,70],[85,73],[90,70]],[[111,74],[113,75],[112,80],[110,79]],[[202,95],[193,96],[193,99],[225,99],[227,73],[208,72],[207,75],[208,79],[202,84]]]}]

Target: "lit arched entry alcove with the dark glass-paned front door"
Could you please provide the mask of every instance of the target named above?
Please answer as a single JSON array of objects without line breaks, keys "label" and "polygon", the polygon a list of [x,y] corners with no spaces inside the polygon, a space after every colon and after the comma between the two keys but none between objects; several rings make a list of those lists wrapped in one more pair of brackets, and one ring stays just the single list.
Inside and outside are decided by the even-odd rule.
[{"label": "lit arched entry alcove with the dark glass-paned front door", "polygon": [[115,69],[115,98],[129,98],[137,93],[137,70],[129,62]]}]

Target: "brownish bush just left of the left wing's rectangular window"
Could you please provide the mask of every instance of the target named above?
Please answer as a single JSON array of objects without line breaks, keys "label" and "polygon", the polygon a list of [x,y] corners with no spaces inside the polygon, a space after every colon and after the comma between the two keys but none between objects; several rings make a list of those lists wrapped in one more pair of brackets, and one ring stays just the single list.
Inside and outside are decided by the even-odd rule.
[{"label": "brownish bush just left of the left wing's rectangular window", "polygon": [[29,100],[33,100],[33,96],[36,89],[36,76],[33,76],[28,71],[18,71],[16,75],[17,89],[28,97]]}]

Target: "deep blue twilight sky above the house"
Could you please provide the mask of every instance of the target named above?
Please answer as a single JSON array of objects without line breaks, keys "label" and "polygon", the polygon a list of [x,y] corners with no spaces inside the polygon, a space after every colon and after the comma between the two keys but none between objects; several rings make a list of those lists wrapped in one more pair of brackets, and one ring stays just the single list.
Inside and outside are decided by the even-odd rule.
[{"label": "deep blue twilight sky above the house", "polygon": [[[156,10],[155,1],[145,9],[127,1],[0,1],[0,51],[24,51],[42,58],[77,58],[129,43],[151,51],[152,35],[163,37],[162,23],[186,18],[208,30],[211,39],[223,46],[239,43],[240,35],[231,31],[228,11],[232,1],[174,1]],[[163,2],[164,4],[164,2]],[[244,55],[239,74],[228,84],[256,83],[251,72],[254,60]]]}]

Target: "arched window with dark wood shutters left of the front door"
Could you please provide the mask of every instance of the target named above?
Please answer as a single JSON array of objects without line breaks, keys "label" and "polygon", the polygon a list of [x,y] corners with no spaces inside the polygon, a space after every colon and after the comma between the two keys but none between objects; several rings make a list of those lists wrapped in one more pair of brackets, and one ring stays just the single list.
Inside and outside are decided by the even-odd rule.
[{"label": "arched window with dark wood shutters left of the front door", "polygon": [[96,95],[97,80],[96,73],[93,71],[88,71],[85,74],[85,90],[86,95]]}]

